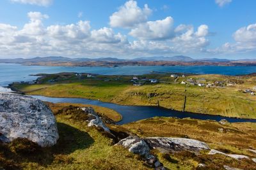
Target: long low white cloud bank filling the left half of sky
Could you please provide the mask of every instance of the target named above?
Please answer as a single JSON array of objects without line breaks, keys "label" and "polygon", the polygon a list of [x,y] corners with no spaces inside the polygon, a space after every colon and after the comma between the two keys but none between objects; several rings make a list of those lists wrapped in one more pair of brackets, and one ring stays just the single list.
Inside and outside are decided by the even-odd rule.
[{"label": "long low white cloud bank filling the left half of sky", "polygon": [[2,56],[25,57],[65,55],[71,57],[106,56],[124,54],[128,49],[126,36],[115,34],[113,29],[104,27],[91,30],[90,21],[76,24],[49,25],[48,18],[39,12],[28,13],[29,22],[22,29],[0,24],[0,51]]}]

